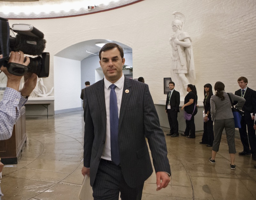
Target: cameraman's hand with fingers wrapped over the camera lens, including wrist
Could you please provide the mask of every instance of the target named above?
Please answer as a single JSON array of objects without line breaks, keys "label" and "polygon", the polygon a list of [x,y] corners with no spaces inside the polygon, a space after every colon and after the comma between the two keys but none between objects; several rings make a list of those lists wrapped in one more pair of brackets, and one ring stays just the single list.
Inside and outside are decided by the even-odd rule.
[{"label": "cameraman's hand with fingers wrapped over the camera lens, including wrist", "polygon": [[[3,56],[1,56],[1,58],[2,57]],[[24,53],[22,51],[20,51],[20,52],[12,51],[8,63],[18,63],[21,65],[28,66],[28,64],[30,62],[29,57],[26,56],[26,62],[24,62],[24,59],[25,59],[25,57],[24,57]],[[4,72],[5,75],[7,76],[7,86],[6,87],[13,88],[13,89],[19,91],[20,80],[21,80],[22,76],[16,76],[16,75],[9,73],[7,68],[4,66],[1,66],[0,70],[2,72]]]}]

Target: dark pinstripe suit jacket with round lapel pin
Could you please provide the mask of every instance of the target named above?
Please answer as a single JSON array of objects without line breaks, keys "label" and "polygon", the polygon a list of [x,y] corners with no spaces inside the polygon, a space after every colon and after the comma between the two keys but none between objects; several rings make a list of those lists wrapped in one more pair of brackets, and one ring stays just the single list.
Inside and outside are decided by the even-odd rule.
[{"label": "dark pinstripe suit jacket with round lapel pin", "polygon": [[[84,89],[84,101],[84,166],[90,167],[93,185],[106,140],[104,79]],[[130,187],[141,185],[153,172],[145,137],[155,171],[171,174],[164,133],[148,85],[125,77],[118,145],[122,173]]]}]

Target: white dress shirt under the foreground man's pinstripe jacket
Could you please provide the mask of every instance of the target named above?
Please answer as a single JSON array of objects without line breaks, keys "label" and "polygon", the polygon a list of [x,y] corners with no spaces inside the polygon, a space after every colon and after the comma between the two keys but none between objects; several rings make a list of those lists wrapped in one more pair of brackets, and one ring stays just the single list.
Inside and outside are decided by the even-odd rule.
[{"label": "white dress shirt under the foreground man's pinstripe jacket", "polygon": [[[101,155],[102,159],[111,160],[111,144],[110,144],[110,117],[109,117],[109,98],[110,98],[110,85],[113,83],[109,82],[106,77],[104,77],[104,94],[105,94],[105,104],[106,104],[106,114],[107,114],[107,126],[106,126],[106,141],[105,146]],[[120,114],[120,107],[122,103],[122,96],[124,90],[124,74],[122,77],[114,83],[116,85],[115,92],[117,98],[117,108],[118,108],[118,117]]]}]

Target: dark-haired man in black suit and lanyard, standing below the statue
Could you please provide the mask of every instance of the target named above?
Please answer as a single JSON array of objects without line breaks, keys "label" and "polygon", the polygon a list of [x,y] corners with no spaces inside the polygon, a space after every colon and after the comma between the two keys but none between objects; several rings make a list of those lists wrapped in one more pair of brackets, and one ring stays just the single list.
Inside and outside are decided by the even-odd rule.
[{"label": "dark-haired man in black suit and lanyard, standing below the statue", "polygon": [[166,135],[171,135],[171,137],[179,136],[179,124],[178,124],[178,112],[180,112],[180,93],[174,90],[175,83],[169,82],[170,91],[167,93],[165,112],[167,112],[168,120],[170,124],[170,133]]}]

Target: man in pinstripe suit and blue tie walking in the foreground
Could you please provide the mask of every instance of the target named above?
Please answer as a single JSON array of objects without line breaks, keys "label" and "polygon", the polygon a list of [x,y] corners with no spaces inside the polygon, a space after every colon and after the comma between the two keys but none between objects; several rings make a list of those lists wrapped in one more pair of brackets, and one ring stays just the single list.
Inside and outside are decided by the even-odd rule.
[{"label": "man in pinstripe suit and blue tie walking in the foreground", "polygon": [[123,200],[141,199],[144,181],[153,171],[145,137],[156,190],[170,181],[164,133],[148,85],[124,77],[123,49],[107,43],[99,57],[104,79],[84,89],[82,174],[90,175],[94,199],[117,200],[119,191]]}]

